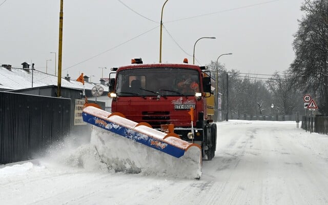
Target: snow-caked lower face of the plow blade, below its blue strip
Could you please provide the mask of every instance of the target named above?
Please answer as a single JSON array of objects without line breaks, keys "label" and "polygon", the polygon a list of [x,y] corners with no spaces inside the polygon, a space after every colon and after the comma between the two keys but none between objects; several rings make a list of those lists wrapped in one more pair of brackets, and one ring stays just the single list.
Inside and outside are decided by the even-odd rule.
[{"label": "snow-caked lower face of the plow blade, below its blue strip", "polygon": [[185,155],[176,158],[95,126],[90,144],[100,160],[115,172],[179,178],[201,176],[201,165],[193,160],[194,156],[199,156],[196,147],[191,147]]}]

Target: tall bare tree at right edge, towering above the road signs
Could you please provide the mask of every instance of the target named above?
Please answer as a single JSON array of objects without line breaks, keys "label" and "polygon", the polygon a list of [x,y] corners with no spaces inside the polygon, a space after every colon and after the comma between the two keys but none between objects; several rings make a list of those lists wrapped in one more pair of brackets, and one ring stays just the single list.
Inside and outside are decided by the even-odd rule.
[{"label": "tall bare tree at right edge, towering above the road signs", "polygon": [[328,1],[305,0],[293,47],[290,72],[294,85],[318,97],[320,112],[328,114]]}]

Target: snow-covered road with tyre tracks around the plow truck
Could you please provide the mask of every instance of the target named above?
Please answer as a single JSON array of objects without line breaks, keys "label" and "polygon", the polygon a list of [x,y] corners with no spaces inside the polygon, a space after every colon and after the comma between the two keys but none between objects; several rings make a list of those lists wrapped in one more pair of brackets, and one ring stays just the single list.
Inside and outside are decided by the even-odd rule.
[{"label": "snow-covered road with tyre tracks around the plow truck", "polygon": [[200,180],[110,172],[83,147],[33,163],[1,166],[0,201],[328,204],[326,135],[297,129],[295,122],[230,120],[218,123],[217,143],[214,159],[203,161]]}]

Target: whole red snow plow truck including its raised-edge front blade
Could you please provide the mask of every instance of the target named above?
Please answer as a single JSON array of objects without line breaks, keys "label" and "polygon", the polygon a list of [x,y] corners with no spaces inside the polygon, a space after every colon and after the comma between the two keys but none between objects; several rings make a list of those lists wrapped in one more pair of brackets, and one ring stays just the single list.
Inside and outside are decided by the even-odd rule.
[{"label": "whole red snow plow truck including its raised-edge front blade", "polygon": [[[94,125],[97,152],[107,163],[133,173],[178,174],[179,168],[192,178],[201,176],[202,160],[211,160],[216,150],[215,95],[210,71],[186,60],[143,64],[134,58],[131,65],[111,69],[112,112],[87,105],[83,111],[84,121]],[[117,140],[125,140],[126,148]]]}]

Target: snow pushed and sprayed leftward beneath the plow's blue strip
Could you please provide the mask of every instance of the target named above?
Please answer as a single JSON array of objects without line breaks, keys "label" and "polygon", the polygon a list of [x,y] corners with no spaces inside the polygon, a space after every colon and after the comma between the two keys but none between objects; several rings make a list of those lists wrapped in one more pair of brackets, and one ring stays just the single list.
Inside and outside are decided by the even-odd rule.
[{"label": "snow pushed and sprayed leftward beneath the plow's blue strip", "polygon": [[61,169],[71,167],[86,171],[189,179],[201,176],[201,165],[192,161],[195,154],[193,148],[176,158],[95,126],[87,144],[77,146],[76,137],[68,137],[65,142],[53,145],[47,156],[40,160],[47,167],[57,166]]}]

